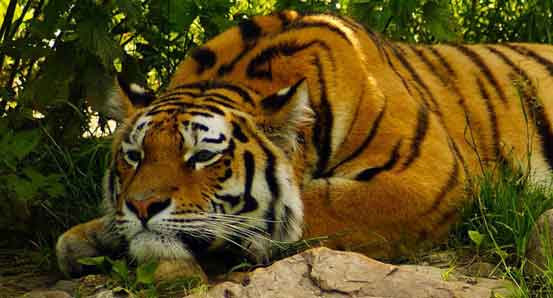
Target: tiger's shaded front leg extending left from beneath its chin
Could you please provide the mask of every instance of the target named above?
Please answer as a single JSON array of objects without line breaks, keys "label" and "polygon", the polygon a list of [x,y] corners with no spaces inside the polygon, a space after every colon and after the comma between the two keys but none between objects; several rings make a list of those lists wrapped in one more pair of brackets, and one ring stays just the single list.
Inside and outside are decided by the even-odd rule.
[{"label": "tiger's shaded front leg extending left from beneath its chin", "polygon": [[66,276],[80,276],[86,273],[86,266],[79,259],[120,253],[123,246],[111,218],[99,217],[70,228],[58,238],[58,266]]}]

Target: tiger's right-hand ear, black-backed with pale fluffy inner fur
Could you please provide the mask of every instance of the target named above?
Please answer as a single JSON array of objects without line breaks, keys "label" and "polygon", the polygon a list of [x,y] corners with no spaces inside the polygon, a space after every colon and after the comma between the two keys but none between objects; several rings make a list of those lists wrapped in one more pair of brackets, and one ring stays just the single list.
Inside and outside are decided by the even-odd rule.
[{"label": "tiger's right-hand ear, black-backed with pale fluffy inner fur", "polygon": [[265,135],[284,151],[295,150],[299,132],[313,121],[305,79],[261,100],[263,116],[258,121]]}]

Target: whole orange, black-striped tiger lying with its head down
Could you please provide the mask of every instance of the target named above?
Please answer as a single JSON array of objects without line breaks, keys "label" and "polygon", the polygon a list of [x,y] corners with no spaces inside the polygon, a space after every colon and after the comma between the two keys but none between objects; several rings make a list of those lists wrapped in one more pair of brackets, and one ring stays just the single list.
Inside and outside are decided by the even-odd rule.
[{"label": "whole orange, black-striped tiger lying with its head down", "polygon": [[553,166],[553,46],[394,42],[282,11],[191,51],[161,92],[123,81],[102,217],[63,233],[61,271],[280,244],[401,256],[447,238],[474,174]]}]

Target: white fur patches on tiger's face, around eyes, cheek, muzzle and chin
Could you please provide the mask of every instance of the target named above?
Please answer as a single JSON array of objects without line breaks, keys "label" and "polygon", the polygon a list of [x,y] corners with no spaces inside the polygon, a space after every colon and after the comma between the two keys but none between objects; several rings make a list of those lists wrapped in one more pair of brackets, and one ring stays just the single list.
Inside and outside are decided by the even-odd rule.
[{"label": "white fur patches on tiger's face, around eyes, cheek, muzzle and chin", "polygon": [[[232,139],[232,124],[220,115],[206,117],[194,115],[187,121],[179,123],[179,132],[183,137],[184,160],[194,156],[202,150],[219,153],[214,160],[196,165],[196,170],[207,167],[223,156],[223,152],[229,147]],[[133,129],[127,141],[122,143],[122,149],[140,150],[142,142],[150,127],[150,118],[141,117],[133,125]],[[254,140],[251,140],[255,142]],[[252,144],[254,145],[254,144]],[[267,144],[265,144],[267,145]],[[248,145],[249,146],[249,145]],[[248,150],[246,147],[241,147]],[[277,148],[274,148],[278,150]],[[241,149],[242,150],[242,149]],[[251,150],[251,149],[250,149]],[[255,170],[252,173],[250,195],[256,199],[257,208],[248,212],[240,212],[245,207],[244,193],[246,177],[243,171],[237,171],[236,167],[243,167],[244,152],[236,150],[233,165],[235,172],[224,182],[221,189],[216,191],[219,196],[229,195],[241,197],[236,205],[228,201],[210,198],[212,204],[209,210],[198,214],[177,214],[176,202],[172,202],[166,209],[153,215],[146,223],[143,223],[128,207],[123,204],[122,214],[117,218],[118,230],[129,241],[129,252],[139,260],[147,258],[179,258],[192,257],[187,244],[182,242],[179,235],[185,234],[198,239],[206,237],[214,239],[210,248],[219,247],[219,244],[229,243],[241,247],[245,254],[262,260],[270,256],[271,248],[275,241],[296,241],[302,233],[302,204],[300,192],[293,182],[292,166],[285,161],[284,154],[275,153],[272,166],[276,183],[279,187],[278,197],[273,198],[268,184],[266,169],[269,166],[268,156],[256,155]],[[251,152],[250,152],[251,153]],[[143,153],[142,153],[143,154]],[[238,164],[236,164],[238,163]],[[272,201],[276,202],[271,205]],[[268,210],[274,208],[273,215],[267,217]],[[223,210],[224,209],[224,210]],[[178,222],[175,219],[186,219],[186,222]],[[269,235],[269,224],[274,225],[274,232]],[[181,235],[182,236],[182,235]],[[234,242],[238,237],[240,241]]]}]

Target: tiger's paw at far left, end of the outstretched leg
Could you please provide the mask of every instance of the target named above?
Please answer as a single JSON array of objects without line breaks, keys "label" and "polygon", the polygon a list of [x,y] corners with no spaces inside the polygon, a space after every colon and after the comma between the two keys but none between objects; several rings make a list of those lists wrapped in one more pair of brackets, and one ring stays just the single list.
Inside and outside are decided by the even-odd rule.
[{"label": "tiger's paw at far left, end of the outstretched leg", "polygon": [[92,270],[89,266],[79,263],[79,259],[99,256],[100,251],[86,237],[71,229],[58,238],[56,255],[60,271],[65,276],[79,277]]}]

